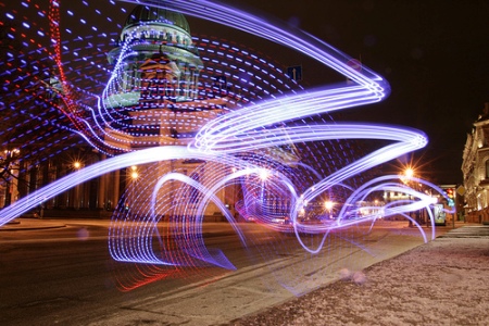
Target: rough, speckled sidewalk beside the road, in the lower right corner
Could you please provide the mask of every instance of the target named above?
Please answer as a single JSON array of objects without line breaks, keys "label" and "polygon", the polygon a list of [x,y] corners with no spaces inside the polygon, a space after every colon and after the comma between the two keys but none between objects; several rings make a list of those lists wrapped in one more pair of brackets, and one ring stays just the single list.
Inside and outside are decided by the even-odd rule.
[{"label": "rough, speckled sidewalk beside the road, in the lower right corner", "polygon": [[436,240],[229,325],[489,325],[489,226]]}]

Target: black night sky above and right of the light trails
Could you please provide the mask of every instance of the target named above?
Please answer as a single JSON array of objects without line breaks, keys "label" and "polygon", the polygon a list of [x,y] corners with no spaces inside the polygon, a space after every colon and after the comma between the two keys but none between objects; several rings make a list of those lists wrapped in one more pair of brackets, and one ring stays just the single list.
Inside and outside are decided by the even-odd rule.
[{"label": "black night sky above and right of the light trails", "polygon": [[[341,118],[425,131],[428,147],[401,158],[399,164],[413,162],[421,177],[438,184],[463,181],[466,135],[489,102],[489,1],[247,0],[241,4],[315,35],[386,77],[392,88],[386,101],[349,110]],[[204,28],[189,22],[192,32]],[[231,33],[221,29],[224,38],[242,37]],[[275,54],[284,65],[302,64],[304,85],[331,83],[325,68],[301,54],[281,55],[272,45],[256,40],[252,46]]]}]

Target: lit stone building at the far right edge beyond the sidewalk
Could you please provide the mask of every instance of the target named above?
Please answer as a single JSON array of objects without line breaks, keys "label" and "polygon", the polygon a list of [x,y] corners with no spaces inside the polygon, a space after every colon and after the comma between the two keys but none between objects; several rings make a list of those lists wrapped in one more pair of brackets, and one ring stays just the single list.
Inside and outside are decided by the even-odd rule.
[{"label": "lit stone building at the far right edge beyond the sidewalk", "polygon": [[489,103],[474,123],[463,153],[465,216],[468,222],[489,222]]}]

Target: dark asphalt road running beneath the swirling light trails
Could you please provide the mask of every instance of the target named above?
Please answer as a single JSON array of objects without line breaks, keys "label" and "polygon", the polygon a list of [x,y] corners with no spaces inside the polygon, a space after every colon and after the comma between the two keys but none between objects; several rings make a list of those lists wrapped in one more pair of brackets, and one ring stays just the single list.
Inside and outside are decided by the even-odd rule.
[{"label": "dark asphalt road running beneath the swirling light trails", "polygon": [[423,243],[405,222],[381,222],[323,237],[242,224],[246,246],[227,224],[205,224],[209,248],[236,271],[115,262],[109,222],[0,233],[1,325],[216,325],[280,304]]}]

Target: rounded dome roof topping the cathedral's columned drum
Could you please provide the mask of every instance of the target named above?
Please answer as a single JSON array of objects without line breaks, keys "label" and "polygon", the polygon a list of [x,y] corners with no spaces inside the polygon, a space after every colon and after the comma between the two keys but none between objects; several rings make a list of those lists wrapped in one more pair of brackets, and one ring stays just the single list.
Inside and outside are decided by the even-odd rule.
[{"label": "rounded dome roof topping the cathedral's columned drum", "polygon": [[190,26],[187,18],[179,12],[174,12],[168,9],[153,8],[148,5],[137,5],[124,24],[124,27],[139,25],[145,22],[159,22],[174,27],[179,27],[190,34]]}]

